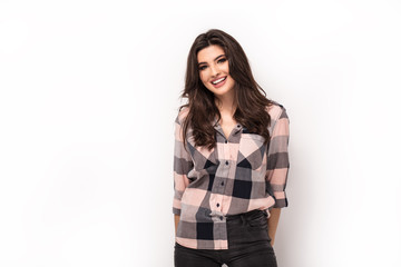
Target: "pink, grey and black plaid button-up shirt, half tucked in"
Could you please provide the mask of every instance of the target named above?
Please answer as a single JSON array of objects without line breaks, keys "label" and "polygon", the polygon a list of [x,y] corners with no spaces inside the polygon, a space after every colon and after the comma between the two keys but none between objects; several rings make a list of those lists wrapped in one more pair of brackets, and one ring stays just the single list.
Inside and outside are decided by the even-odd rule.
[{"label": "pink, grey and black plaid button-up shirt, half tucked in", "polygon": [[175,120],[173,212],[180,215],[176,241],[198,249],[227,249],[226,216],[253,209],[287,206],[285,186],[288,162],[288,117],[274,102],[266,107],[271,116],[271,141],[237,123],[226,138],[217,119],[217,147],[195,147],[188,128],[184,149],[182,122],[188,108]]}]

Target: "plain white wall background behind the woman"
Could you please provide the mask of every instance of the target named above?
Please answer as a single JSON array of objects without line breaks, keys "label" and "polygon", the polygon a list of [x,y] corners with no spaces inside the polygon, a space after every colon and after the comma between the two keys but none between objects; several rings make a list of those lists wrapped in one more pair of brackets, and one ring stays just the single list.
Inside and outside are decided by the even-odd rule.
[{"label": "plain white wall background behind the woman", "polygon": [[0,2],[0,266],[173,266],[195,37],[290,116],[280,267],[401,266],[400,1]]}]

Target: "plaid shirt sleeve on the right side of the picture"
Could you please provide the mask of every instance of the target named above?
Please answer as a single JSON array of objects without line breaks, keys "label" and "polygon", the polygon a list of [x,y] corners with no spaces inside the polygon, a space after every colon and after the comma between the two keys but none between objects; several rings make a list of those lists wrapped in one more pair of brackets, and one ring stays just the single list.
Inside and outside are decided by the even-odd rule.
[{"label": "plaid shirt sleeve on the right side of the picture", "polygon": [[282,112],[273,126],[267,150],[266,180],[268,181],[270,191],[275,198],[273,208],[284,208],[288,206],[285,187],[290,169],[290,120],[285,108],[281,108]]}]

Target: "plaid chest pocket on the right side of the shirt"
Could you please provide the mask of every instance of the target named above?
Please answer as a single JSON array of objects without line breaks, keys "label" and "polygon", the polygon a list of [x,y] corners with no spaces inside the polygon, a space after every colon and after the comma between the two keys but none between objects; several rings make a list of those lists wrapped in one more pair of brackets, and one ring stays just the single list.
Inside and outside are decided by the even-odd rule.
[{"label": "plaid chest pocket on the right side of the shirt", "polygon": [[237,167],[257,169],[263,164],[266,146],[264,137],[256,134],[242,134],[238,148]]}]

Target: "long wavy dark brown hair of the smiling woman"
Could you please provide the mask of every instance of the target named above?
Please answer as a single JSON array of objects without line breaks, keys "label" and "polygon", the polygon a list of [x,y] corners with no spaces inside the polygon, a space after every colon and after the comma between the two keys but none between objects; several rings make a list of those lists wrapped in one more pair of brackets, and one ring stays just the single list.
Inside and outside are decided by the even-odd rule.
[{"label": "long wavy dark brown hair of the smiling woman", "polygon": [[[247,128],[250,132],[258,134],[265,138],[265,145],[270,140],[271,117],[267,106],[272,101],[266,98],[266,92],[253,78],[251,66],[239,43],[228,33],[212,29],[199,34],[190,47],[185,76],[185,89],[182,98],[188,98],[188,102],[179,107],[188,107],[188,113],[183,121],[183,140],[187,135],[188,127],[193,129],[195,146],[205,146],[212,149],[216,146],[215,129],[211,123],[221,113],[215,105],[215,96],[202,82],[197,62],[197,53],[208,47],[217,44],[223,48],[228,60],[229,75],[235,81],[236,110],[234,119]],[[263,93],[261,92],[263,91]],[[184,142],[184,146],[186,142]]]}]

